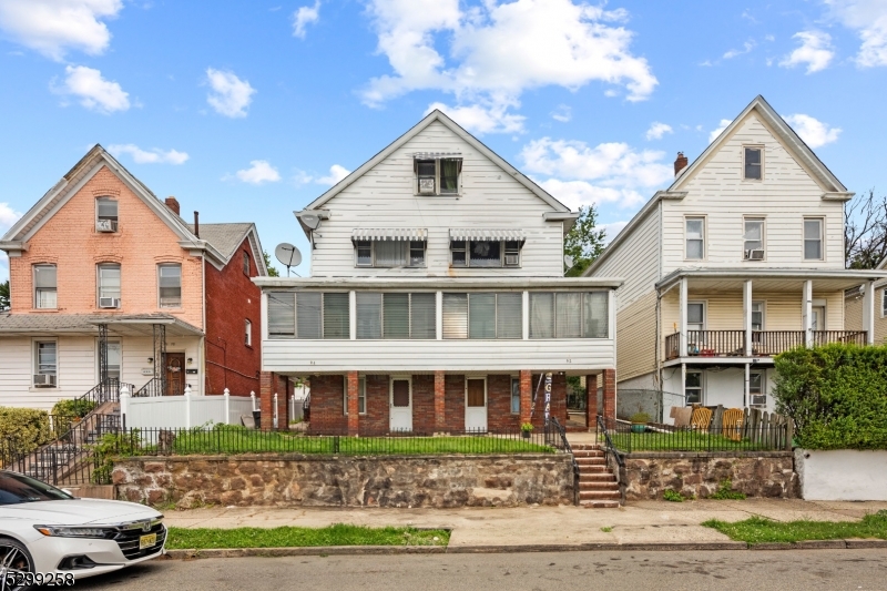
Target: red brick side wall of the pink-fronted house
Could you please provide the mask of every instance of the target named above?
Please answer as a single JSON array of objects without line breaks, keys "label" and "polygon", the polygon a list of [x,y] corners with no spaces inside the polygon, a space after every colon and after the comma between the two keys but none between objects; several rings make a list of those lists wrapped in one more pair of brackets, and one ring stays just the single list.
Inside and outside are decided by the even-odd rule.
[{"label": "red brick side wall of the pink-fronted house", "polygon": [[[249,253],[249,275],[243,252]],[[206,393],[249,396],[257,390],[262,368],[262,293],[249,277],[258,275],[249,241],[218,271],[206,263]],[[245,320],[253,323],[253,345],[246,346]],[[278,393],[283,396],[283,393]]]}]

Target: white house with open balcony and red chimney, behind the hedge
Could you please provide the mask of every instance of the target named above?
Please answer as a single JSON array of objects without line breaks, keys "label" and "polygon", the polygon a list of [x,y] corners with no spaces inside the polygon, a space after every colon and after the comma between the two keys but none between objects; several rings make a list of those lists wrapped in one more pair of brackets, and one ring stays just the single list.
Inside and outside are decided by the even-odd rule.
[{"label": "white house with open balcony and red chimney, behind the hedge", "polygon": [[[619,388],[772,410],[775,355],[871,343],[873,285],[887,272],[844,268],[852,196],[762,96],[692,164],[679,153],[673,184],[585,273],[625,278]],[[865,319],[845,326],[844,292],[861,284]]]}]

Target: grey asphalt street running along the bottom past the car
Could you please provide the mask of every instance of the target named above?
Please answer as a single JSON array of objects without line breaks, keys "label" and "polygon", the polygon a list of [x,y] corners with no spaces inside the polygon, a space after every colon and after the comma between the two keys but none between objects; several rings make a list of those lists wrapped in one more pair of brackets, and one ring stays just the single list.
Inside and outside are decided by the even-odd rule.
[{"label": "grey asphalt street running along the bottom past the car", "polygon": [[78,589],[887,591],[881,550],[540,552],[156,560]]}]

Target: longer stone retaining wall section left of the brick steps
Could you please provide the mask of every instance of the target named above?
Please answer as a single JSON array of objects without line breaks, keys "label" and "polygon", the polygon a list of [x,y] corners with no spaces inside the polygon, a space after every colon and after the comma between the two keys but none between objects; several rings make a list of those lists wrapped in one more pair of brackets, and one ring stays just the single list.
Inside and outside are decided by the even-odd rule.
[{"label": "longer stone retaining wall section left of the brick steps", "polygon": [[570,456],[305,455],[125,458],[121,500],[265,507],[516,507],[571,505]]}]

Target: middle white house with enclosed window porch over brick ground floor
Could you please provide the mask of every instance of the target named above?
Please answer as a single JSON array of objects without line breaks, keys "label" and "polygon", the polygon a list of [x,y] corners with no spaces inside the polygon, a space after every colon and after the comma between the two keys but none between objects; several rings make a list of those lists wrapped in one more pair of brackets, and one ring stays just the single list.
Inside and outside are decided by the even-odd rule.
[{"label": "middle white house with enclosed window porch over brick ground floor", "polygon": [[549,371],[563,421],[567,376],[615,367],[620,281],[563,277],[577,215],[434,111],[296,212],[312,276],[255,279],[263,370],[310,377],[318,434],[541,425]]}]

